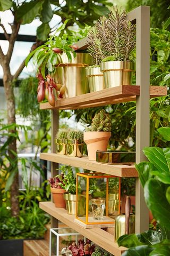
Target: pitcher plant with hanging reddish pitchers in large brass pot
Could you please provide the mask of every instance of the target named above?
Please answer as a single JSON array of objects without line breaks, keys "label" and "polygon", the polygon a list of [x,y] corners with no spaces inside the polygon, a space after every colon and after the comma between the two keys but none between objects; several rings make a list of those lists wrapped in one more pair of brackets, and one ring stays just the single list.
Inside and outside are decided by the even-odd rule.
[{"label": "pitcher plant with hanging reddish pitchers in large brass pot", "polygon": [[[46,98],[52,106],[55,106],[57,97],[73,97],[89,92],[85,67],[92,63],[92,58],[88,53],[75,53],[78,50],[75,43],[86,37],[88,26],[77,32],[66,33],[64,29],[67,21],[64,21],[55,34],[49,36],[45,44],[32,51],[25,61],[27,66],[33,56],[37,67],[38,102]],[[62,35],[58,36],[57,33]]]}]

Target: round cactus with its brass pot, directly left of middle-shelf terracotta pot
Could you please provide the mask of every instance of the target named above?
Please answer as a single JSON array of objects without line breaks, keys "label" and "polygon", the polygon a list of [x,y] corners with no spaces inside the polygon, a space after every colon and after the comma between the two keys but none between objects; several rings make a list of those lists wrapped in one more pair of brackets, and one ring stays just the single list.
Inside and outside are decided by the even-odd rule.
[{"label": "round cactus with its brass pot, directly left of middle-shelf terracotta pot", "polygon": [[66,155],[82,157],[83,155],[83,132],[73,129],[66,136]]}]

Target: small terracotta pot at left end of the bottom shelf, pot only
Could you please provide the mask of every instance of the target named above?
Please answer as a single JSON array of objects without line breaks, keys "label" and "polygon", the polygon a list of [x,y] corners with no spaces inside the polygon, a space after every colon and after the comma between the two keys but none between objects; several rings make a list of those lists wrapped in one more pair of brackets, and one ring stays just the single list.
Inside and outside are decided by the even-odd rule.
[{"label": "small terracotta pot at left end of the bottom shelf, pot only", "polygon": [[63,194],[66,192],[63,188],[51,188],[55,207],[65,208],[65,200]]}]

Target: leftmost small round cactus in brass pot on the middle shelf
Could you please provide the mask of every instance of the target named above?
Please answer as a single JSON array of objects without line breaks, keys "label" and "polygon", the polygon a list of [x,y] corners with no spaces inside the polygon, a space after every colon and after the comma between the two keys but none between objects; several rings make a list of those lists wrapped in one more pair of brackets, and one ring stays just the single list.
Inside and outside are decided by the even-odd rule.
[{"label": "leftmost small round cactus in brass pot on the middle shelf", "polygon": [[66,155],[66,137],[69,129],[59,129],[56,134],[56,153]]}]

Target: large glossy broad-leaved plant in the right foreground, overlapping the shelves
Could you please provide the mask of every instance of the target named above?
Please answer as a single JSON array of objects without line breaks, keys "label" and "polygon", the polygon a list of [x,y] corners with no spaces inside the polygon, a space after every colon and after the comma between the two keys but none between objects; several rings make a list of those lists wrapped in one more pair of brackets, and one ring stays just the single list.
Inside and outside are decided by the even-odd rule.
[{"label": "large glossy broad-leaved plant in the right foreground, overlapping the shelves", "polygon": [[[170,128],[160,130],[166,138]],[[146,147],[143,152],[149,162],[136,164],[145,201],[154,218],[157,230],[148,230],[142,234],[124,235],[118,239],[118,245],[130,248],[126,255],[168,255],[170,249],[170,148]]]}]

